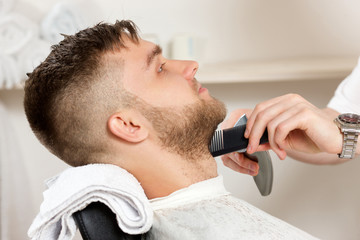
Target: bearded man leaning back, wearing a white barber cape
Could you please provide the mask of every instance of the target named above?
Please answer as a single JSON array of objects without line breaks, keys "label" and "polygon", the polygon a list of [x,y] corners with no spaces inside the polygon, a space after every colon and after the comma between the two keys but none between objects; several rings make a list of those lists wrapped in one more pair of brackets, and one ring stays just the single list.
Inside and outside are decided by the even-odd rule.
[{"label": "bearded man leaning back, wearing a white barber cape", "polygon": [[26,82],[39,140],[71,166],[119,166],[154,210],[149,239],[313,239],[228,193],[208,145],[226,109],[198,63],[162,56],[131,21],[66,36]]}]

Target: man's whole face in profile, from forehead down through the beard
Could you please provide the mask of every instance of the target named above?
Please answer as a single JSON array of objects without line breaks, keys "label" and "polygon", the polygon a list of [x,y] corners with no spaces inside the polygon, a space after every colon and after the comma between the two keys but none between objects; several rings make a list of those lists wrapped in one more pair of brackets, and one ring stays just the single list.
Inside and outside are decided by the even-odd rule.
[{"label": "man's whole face in profile, from forehead down through the beard", "polygon": [[152,124],[167,150],[194,160],[209,154],[208,145],[225,118],[222,102],[196,81],[198,64],[168,60],[153,43],[126,43],[122,55],[123,87],[134,95],[133,107]]}]

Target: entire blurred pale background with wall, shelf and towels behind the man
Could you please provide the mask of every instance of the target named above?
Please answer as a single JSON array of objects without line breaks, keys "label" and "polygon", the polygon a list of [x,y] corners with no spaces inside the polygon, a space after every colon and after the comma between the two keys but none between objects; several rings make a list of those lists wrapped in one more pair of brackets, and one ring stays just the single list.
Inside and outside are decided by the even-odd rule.
[{"label": "entire blurred pale background with wall, shelf and towels behind the man", "polygon": [[[0,0],[0,238],[26,239],[44,181],[67,168],[26,121],[22,82],[60,33],[131,19],[169,58],[196,59],[198,80],[231,112],[298,93],[322,108],[360,55],[357,0]],[[271,153],[272,154],[272,153]],[[274,154],[262,197],[217,159],[227,189],[321,239],[360,239],[360,159],[315,166]]]}]

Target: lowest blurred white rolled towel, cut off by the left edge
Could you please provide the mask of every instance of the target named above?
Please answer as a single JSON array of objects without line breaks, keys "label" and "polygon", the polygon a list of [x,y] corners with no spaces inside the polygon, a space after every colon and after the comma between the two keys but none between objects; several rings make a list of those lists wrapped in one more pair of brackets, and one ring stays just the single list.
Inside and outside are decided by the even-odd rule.
[{"label": "lowest blurred white rolled towel, cut off by the left edge", "polygon": [[19,85],[21,80],[15,58],[0,52],[0,88],[13,88]]}]

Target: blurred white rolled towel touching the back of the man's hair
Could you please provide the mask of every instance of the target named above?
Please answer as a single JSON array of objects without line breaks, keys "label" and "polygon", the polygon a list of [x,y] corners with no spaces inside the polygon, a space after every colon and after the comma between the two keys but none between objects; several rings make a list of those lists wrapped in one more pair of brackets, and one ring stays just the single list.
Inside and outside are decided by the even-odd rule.
[{"label": "blurred white rolled towel touching the back of the man's hair", "polygon": [[21,77],[26,78],[26,73],[32,72],[51,51],[51,44],[41,39],[31,41],[18,55],[18,65]]}]

